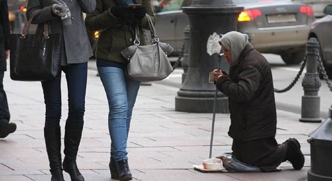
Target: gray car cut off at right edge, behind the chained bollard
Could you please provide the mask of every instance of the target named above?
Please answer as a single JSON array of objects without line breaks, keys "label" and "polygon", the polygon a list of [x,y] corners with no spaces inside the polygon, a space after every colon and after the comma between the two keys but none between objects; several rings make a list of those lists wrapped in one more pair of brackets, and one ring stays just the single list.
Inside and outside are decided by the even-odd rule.
[{"label": "gray car cut off at right edge, behind the chained bollard", "polygon": [[[332,78],[332,5],[327,6],[324,9],[326,16],[319,20],[316,20],[311,24],[308,38],[317,38],[320,45],[320,57],[323,61],[325,70]],[[319,72],[319,76],[322,78],[322,72]]]}]

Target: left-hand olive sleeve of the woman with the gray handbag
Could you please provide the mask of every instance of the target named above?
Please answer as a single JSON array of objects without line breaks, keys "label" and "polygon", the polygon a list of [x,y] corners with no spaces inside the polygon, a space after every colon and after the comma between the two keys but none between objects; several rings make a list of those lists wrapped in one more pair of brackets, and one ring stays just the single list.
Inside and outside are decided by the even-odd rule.
[{"label": "left-hand olive sleeve of the woman with the gray handbag", "polygon": [[118,23],[116,17],[111,13],[111,8],[103,11],[103,0],[96,0],[96,9],[87,14],[85,26],[90,31],[100,30]]}]

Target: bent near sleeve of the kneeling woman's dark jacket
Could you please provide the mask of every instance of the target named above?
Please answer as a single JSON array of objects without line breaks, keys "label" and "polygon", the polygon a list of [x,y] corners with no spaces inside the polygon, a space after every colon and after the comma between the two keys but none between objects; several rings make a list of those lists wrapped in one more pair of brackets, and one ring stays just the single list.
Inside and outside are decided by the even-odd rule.
[{"label": "bent near sleeve of the kneeling woman's dark jacket", "polygon": [[257,68],[247,66],[243,71],[239,72],[238,78],[239,81],[236,83],[228,75],[223,75],[216,83],[216,86],[229,99],[237,102],[249,102],[260,85],[261,74]]}]

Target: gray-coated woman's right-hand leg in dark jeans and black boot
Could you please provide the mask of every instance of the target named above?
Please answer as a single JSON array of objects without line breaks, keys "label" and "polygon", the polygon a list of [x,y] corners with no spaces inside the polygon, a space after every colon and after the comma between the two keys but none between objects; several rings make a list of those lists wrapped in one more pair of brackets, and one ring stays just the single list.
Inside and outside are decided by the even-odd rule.
[{"label": "gray-coated woman's right-hand leg in dark jeans and black boot", "polygon": [[68,118],[64,136],[63,169],[69,173],[72,181],[84,181],[84,177],[77,168],[76,157],[84,123],[87,63],[72,64],[63,68],[63,71],[66,73],[68,86]]}]

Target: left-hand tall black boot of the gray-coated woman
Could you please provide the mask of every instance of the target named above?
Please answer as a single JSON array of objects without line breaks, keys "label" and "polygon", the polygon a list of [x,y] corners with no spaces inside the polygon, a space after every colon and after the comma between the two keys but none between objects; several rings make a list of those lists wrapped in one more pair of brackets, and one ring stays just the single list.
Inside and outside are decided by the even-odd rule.
[{"label": "left-hand tall black boot of the gray-coated woman", "polygon": [[44,138],[49,161],[51,181],[64,181],[61,167],[61,130],[57,128],[44,128]]}]

